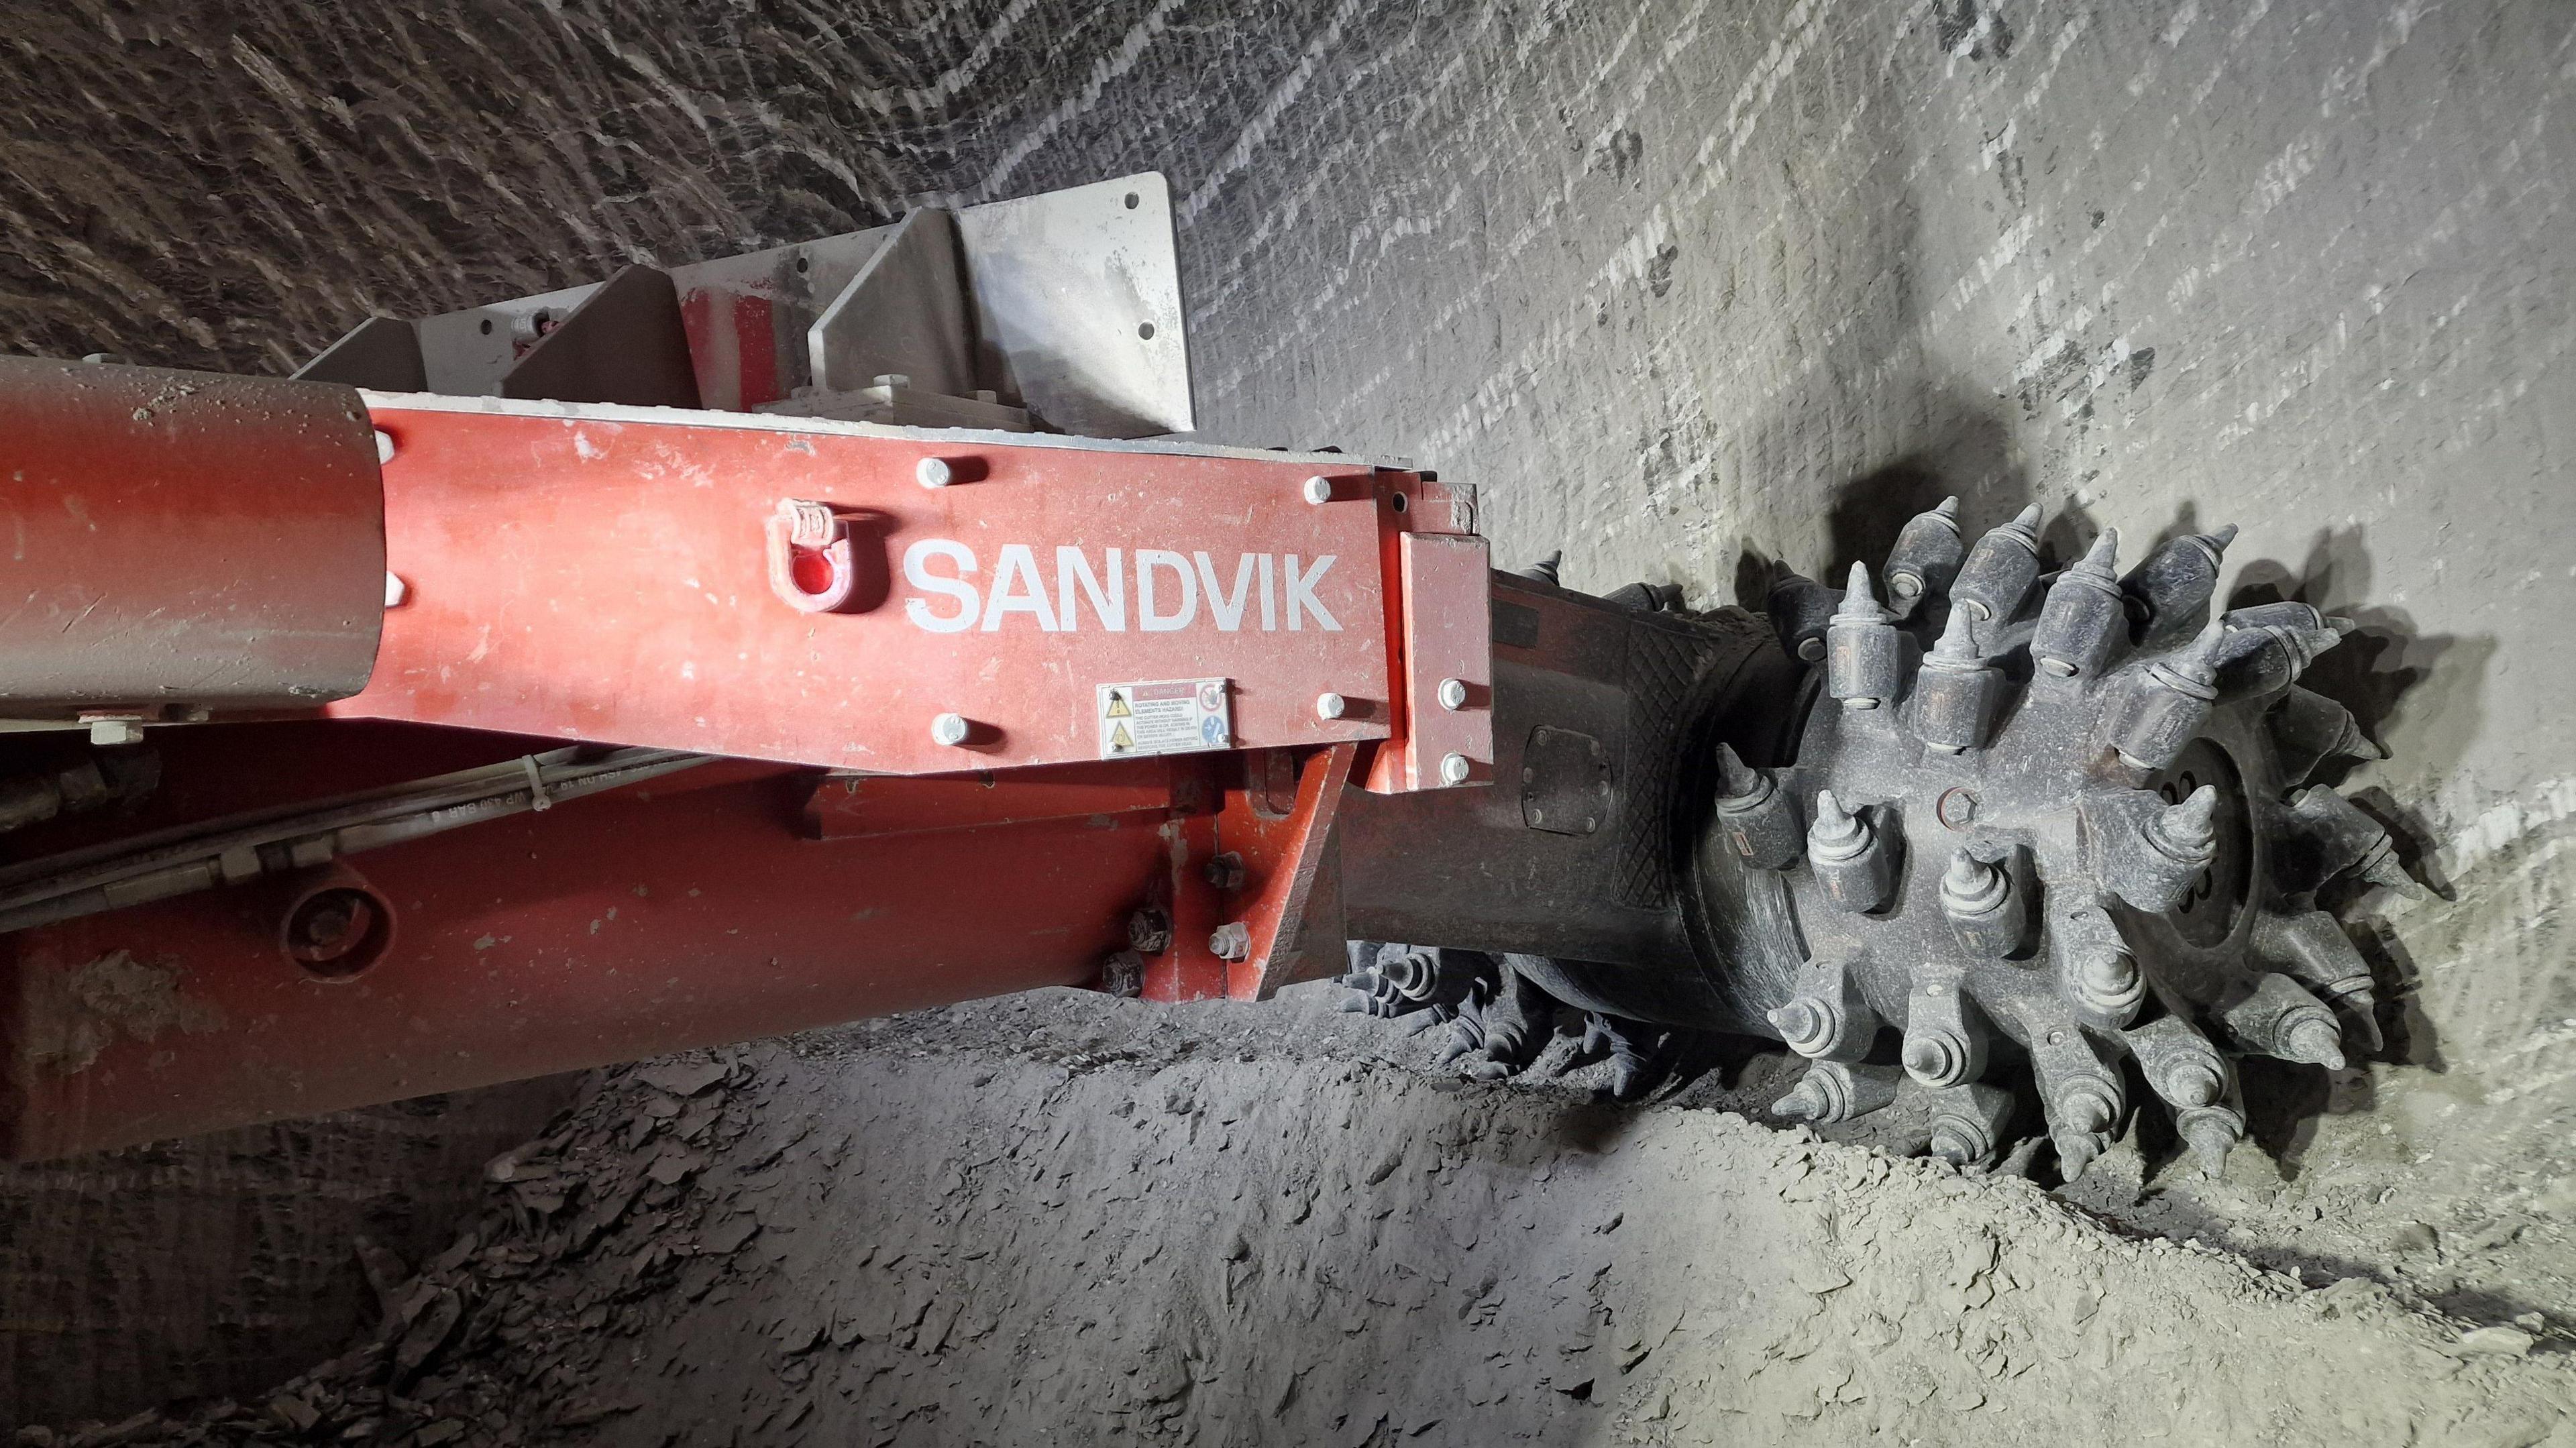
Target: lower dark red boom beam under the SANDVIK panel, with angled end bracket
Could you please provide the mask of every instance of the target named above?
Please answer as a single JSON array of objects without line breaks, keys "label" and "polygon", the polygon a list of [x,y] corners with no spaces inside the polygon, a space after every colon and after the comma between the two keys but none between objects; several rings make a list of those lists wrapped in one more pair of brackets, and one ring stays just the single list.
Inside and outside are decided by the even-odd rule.
[{"label": "lower dark red boom beam under the SANDVIK panel, with angled end bracket", "polygon": [[[394,724],[180,732],[178,783],[137,824],[523,745]],[[100,1149],[1082,984],[1144,904],[1175,920],[1149,997],[1265,997],[1340,966],[1334,822],[1355,755],[927,778],[729,760],[309,876],[8,935],[0,1149]],[[1293,796],[1270,763],[1291,765]],[[1234,889],[1211,879],[1221,853]],[[289,930],[322,889],[363,894],[353,925],[381,925],[381,946],[312,948]],[[1236,920],[1247,953],[1224,961],[1208,935]]]}]

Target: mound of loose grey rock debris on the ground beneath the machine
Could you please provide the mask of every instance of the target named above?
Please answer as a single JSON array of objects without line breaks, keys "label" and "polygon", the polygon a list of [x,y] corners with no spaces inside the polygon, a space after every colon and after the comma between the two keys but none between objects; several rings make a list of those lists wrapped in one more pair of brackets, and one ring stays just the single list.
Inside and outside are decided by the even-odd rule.
[{"label": "mound of loose grey rock debris on the ground beneath the machine", "polygon": [[18,1440],[2576,1445],[2540,1319],[1721,1110],[1167,1023],[603,1072],[448,1250],[358,1247],[348,1353]]}]

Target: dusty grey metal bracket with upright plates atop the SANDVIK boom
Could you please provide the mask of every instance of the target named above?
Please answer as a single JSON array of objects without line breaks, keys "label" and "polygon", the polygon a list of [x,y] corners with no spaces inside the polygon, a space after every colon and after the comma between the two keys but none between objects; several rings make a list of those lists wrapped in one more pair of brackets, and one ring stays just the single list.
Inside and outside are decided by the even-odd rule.
[{"label": "dusty grey metal bracket with upright plates atop the SANDVIK boom", "polygon": [[[559,343],[567,327],[582,335]],[[891,227],[629,268],[417,322],[371,317],[299,376],[1092,438],[1195,425],[1159,173],[925,206]]]}]

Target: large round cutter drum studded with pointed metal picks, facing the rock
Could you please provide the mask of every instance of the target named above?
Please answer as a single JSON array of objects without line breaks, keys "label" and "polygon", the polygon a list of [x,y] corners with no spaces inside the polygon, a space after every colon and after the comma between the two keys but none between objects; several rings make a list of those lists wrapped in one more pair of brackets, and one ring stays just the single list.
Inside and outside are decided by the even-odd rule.
[{"label": "large round cutter drum studded with pointed metal picks, facing the rock", "polygon": [[[2378,1043],[2367,964],[2316,889],[2411,881],[2367,817],[2303,786],[2331,757],[2380,752],[2295,685],[2342,636],[2334,621],[2306,605],[2208,613],[2231,528],[2159,549],[2123,595],[2107,538],[2030,587],[2035,523],[2025,510],[1960,569],[1973,631],[1953,626],[1937,587],[1909,593],[1904,618],[1862,618],[1847,590],[1855,624],[1909,639],[1870,647],[1873,662],[1901,660],[1901,678],[1852,691],[1875,709],[1808,709],[1795,763],[1765,770],[1811,804],[1806,858],[1749,866],[1710,812],[1695,922],[1739,974],[1803,982],[1765,1002],[1770,1031],[1824,1072],[1790,1116],[1868,1113],[1883,1092],[1852,1090],[1850,1069],[1904,1062],[1906,1090],[1953,1103],[1945,1154],[2002,1147],[1994,1098],[1965,1087],[2009,1085],[2038,1098],[2076,1175],[2141,1110],[2120,1090],[2120,1062],[2136,1059],[2143,1108],[2166,1110],[2215,1170],[2244,1136],[2239,1054],[2324,1064]],[[1927,678],[1955,688],[1968,667],[1991,670],[2002,698],[1978,701],[1973,729],[1935,711],[1927,737]],[[1852,824],[1893,861],[1875,910],[1855,910]],[[2007,907],[2027,907],[2030,925]],[[2014,1049],[1991,1049],[2004,1041]]]}]

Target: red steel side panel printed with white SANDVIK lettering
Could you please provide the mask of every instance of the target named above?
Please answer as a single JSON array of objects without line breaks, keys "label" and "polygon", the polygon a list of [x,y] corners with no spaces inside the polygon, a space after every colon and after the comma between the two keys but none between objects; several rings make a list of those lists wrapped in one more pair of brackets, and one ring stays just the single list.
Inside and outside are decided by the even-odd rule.
[{"label": "red steel side panel printed with white SANDVIK lettering", "polygon": [[[1314,701],[1391,693],[1381,536],[1409,474],[1352,466],[1316,508],[1311,461],[670,417],[379,399],[410,600],[332,714],[951,773],[1100,757],[1103,683],[1226,678],[1234,747],[1386,732]],[[925,459],[956,482],[922,487]],[[853,520],[845,611],[773,595],[781,500]],[[966,747],[933,742],[940,714]]]}]

